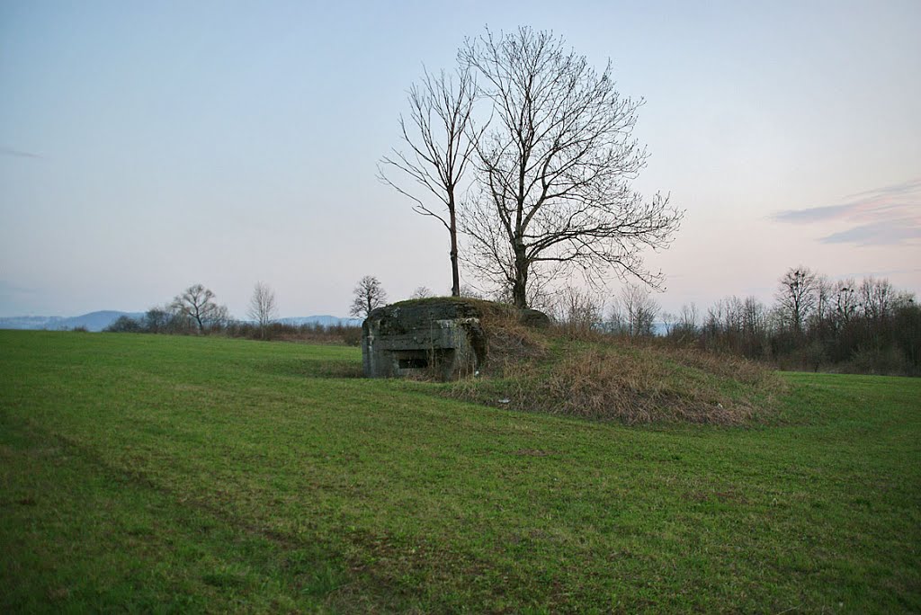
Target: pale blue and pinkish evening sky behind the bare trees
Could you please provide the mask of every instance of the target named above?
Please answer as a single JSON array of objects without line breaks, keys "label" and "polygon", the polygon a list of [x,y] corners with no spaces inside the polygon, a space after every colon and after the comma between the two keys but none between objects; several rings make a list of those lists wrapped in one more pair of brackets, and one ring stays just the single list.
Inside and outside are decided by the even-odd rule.
[{"label": "pale blue and pinkish evening sky behind the bare trees", "polygon": [[646,255],[663,308],[769,303],[800,264],[921,291],[921,3],[562,6],[4,0],[0,316],[449,291],[447,233],[377,164],[423,66],[486,26],[553,30],[645,99],[634,186],[685,210]]}]

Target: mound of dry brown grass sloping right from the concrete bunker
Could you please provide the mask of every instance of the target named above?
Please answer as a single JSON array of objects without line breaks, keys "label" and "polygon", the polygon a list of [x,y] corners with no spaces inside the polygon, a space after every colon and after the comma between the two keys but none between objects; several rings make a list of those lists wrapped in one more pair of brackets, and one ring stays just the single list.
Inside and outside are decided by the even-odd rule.
[{"label": "mound of dry brown grass sloping right from the concrete bunker", "polygon": [[599,335],[573,340],[509,318],[484,321],[484,331],[484,375],[454,385],[454,397],[626,424],[738,425],[770,414],[783,386],[738,357]]}]

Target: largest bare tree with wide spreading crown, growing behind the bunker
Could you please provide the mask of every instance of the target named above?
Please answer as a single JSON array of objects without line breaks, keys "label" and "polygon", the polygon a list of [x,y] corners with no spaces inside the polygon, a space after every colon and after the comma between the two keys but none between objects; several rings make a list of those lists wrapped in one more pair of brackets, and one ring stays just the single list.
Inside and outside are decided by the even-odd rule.
[{"label": "largest bare tree with wide spreading crown, growing behind the bunker", "polygon": [[479,74],[494,127],[475,140],[477,198],[461,215],[472,266],[528,306],[535,276],[614,272],[659,285],[640,250],[670,244],[682,212],[631,189],[647,152],[632,137],[642,100],[614,88],[550,32],[519,28],[468,40],[461,64]]}]

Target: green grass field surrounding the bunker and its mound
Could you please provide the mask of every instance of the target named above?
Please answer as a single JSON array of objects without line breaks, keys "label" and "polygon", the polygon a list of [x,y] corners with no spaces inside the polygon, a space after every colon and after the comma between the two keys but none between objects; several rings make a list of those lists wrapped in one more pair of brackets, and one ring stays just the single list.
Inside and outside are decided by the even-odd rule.
[{"label": "green grass field surrounding the bunker and its mound", "polygon": [[643,427],[359,371],[0,331],[0,611],[921,611],[921,379]]}]

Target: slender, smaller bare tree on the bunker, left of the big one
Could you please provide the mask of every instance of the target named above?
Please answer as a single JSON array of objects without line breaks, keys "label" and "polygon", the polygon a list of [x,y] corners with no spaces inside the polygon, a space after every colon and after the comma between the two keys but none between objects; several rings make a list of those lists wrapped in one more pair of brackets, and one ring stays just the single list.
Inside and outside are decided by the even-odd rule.
[{"label": "slender, smaller bare tree on the bunker, left of the big one", "polygon": [[[409,90],[409,120],[400,116],[402,140],[409,151],[393,149],[391,156],[381,158],[378,177],[412,199],[417,214],[430,215],[448,229],[451,296],[460,296],[456,211],[459,185],[476,138],[471,122],[476,84],[467,67],[461,67],[456,80],[444,71],[432,75],[423,70],[420,82]],[[444,210],[431,208],[414,191],[391,180],[387,168],[400,171],[417,189],[434,196]]]}]

